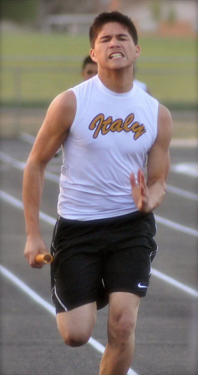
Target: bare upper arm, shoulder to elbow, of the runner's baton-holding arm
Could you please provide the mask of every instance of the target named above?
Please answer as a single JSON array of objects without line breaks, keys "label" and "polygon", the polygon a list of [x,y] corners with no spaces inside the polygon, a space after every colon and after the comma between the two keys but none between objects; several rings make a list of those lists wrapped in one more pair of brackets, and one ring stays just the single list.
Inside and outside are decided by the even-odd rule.
[{"label": "bare upper arm, shoulder to elbow, of the runner's baton-holding arm", "polygon": [[76,114],[76,98],[72,91],[58,95],[48,108],[29,158],[48,163],[67,138]]}]

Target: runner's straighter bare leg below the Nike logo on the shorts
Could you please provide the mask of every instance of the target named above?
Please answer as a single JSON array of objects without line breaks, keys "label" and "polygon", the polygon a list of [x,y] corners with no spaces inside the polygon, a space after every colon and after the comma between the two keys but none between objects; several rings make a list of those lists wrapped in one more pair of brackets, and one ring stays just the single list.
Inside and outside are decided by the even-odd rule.
[{"label": "runner's straighter bare leg below the Nike logo on the shorts", "polygon": [[135,325],[141,297],[132,293],[109,296],[108,341],[100,363],[99,375],[126,375],[130,368],[135,341]]}]

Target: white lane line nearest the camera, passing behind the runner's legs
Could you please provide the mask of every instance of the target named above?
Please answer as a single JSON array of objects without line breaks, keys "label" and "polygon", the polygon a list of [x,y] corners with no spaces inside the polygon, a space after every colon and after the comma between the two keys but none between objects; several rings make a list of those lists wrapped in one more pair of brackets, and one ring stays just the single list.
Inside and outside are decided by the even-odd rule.
[{"label": "white lane line nearest the camera, passing behind the runner's legs", "polygon": [[[31,288],[29,288],[23,281],[21,281],[18,277],[16,277],[12,272],[7,270],[5,267],[1,266],[0,264],[0,272],[6,276],[7,279],[12,281],[15,285],[17,285],[24,293],[26,293],[31,299],[49,311],[54,317],[56,316],[55,308],[50,303],[45,301],[42,297],[39,296],[36,292],[34,292]],[[105,347],[100,344],[97,340],[93,339],[92,337],[89,339],[88,343],[95,348],[101,354],[104,353]],[[127,372],[128,375],[138,375],[137,372],[133,371],[131,368]]]}]

